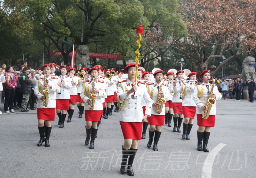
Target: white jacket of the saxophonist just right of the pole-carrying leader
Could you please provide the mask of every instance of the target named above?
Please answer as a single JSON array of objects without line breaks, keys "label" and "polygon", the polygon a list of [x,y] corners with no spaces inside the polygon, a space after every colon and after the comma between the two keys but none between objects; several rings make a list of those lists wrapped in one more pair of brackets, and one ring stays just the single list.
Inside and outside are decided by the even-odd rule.
[{"label": "white jacket of the saxophonist just right of the pole-carrying leader", "polygon": [[[159,87],[160,87],[161,83],[159,84]],[[150,98],[156,102],[157,100],[157,94],[158,94],[158,89],[157,89],[157,84],[156,82],[152,83],[152,82],[148,82],[148,93],[150,95]],[[168,101],[169,99],[169,89],[168,89],[168,86],[166,84],[162,84],[162,92],[164,93],[164,99],[165,101]],[[155,110],[155,106],[153,105],[152,106],[152,111],[151,111],[151,114],[154,114],[154,115],[165,115],[165,104],[163,106],[163,110],[160,114],[157,114],[156,113],[156,110]]]}]

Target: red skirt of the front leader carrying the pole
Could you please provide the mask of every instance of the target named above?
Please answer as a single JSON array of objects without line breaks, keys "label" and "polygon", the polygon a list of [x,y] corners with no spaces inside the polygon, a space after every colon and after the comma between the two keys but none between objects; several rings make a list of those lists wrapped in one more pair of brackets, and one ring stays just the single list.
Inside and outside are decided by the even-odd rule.
[{"label": "red skirt of the front leader carrying the pole", "polygon": [[141,140],[142,122],[121,122],[124,139]]}]

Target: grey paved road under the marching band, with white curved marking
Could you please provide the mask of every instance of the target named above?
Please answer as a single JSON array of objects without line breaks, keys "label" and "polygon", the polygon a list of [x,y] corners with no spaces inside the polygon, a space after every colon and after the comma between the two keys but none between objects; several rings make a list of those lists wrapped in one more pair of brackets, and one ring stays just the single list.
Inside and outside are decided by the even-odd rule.
[{"label": "grey paved road under the marching band, with white curved marking", "polygon": [[[3,111],[3,104],[1,105]],[[162,127],[158,152],[138,143],[134,177],[255,177],[256,103],[234,100],[217,102],[215,127],[211,129],[209,153],[196,150],[196,120],[190,140],[182,140],[173,127]],[[71,123],[60,129],[52,122],[50,147],[37,147],[36,111],[0,115],[1,177],[121,177],[123,135],[118,113],[102,119],[95,149],[84,145],[85,120],[77,108]],[[55,116],[57,118],[57,115]],[[128,175],[124,175],[129,177]]]}]

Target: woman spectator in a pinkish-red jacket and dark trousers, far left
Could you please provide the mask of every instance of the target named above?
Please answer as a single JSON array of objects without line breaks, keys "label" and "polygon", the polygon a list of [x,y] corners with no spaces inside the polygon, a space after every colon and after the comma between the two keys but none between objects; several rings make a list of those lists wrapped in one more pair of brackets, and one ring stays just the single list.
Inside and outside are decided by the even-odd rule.
[{"label": "woman spectator in a pinkish-red jacket and dark trousers, far left", "polygon": [[12,66],[7,66],[5,70],[5,100],[4,100],[4,112],[14,113],[13,98],[15,89],[17,87],[16,77],[12,74]]}]

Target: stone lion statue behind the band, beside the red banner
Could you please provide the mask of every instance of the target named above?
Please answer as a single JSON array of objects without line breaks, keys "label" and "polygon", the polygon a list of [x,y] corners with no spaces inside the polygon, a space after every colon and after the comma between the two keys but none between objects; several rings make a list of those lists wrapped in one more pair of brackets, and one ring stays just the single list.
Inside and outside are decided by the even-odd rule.
[{"label": "stone lion statue behind the band, beside the red banner", "polygon": [[76,68],[78,70],[80,68],[88,68],[88,67],[91,66],[88,46],[86,46],[86,45],[79,45],[76,48],[75,64],[76,64]]}]

